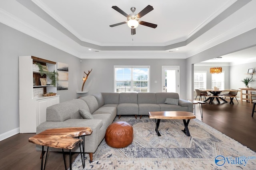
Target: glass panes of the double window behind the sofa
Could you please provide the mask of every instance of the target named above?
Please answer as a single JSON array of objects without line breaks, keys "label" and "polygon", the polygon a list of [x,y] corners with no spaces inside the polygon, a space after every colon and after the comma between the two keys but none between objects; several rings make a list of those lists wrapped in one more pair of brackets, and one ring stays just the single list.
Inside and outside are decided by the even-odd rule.
[{"label": "glass panes of the double window behind the sofa", "polygon": [[114,66],[114,92],[149,92],[150,66]]}]

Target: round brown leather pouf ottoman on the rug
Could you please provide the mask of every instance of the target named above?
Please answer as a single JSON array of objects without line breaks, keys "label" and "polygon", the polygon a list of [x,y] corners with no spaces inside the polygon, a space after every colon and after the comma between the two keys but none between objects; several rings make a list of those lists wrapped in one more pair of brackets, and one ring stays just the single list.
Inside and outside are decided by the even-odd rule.
[{"label": "round brown leather pouf ottoman on the rug", "polygon": [[133,140],[133,128],[127,122],[118,121],[108,126],[105,141],[113,148],[127,147]]}]

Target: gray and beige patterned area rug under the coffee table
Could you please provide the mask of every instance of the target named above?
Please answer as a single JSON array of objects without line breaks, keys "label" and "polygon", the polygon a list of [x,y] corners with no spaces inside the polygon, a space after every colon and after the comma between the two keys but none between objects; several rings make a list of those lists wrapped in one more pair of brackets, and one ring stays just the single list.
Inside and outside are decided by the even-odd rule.
[{"label": "gray and beige patterned area rug under the coffee table", "polygon": [[181,130],[182,120],[164,120],[159,126],[162,135],[155,131],[155,120],[143,116],[116,117],[115,121],[126,121],[134,129],[134,139],[125,148],[109,147],[105,141],[99,145],[89,162],[82,167],[79,155],[72,164],[73,170],[194,170],[194,169],[255,169],[256,152],[224,135],[198,119],[190,120],[190,137]]}]

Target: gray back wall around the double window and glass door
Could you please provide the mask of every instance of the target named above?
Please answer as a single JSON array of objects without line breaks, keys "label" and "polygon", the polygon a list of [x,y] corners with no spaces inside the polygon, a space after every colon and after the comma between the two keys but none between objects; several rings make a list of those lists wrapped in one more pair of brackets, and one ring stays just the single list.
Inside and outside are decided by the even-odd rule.
[{"label": "gray back wall around the double window and glass door", "polygon": [[[92,69],[84,85],[84,91],[88,90],[88,94],[114,92],[114,65],[149,65],[150,92],[162,92],[162,66],[180,66],[180,98],[186,99],[185,59],[83,59],[80,72],[87,73]],[[157,83],[154,83],[155,80]]]}]

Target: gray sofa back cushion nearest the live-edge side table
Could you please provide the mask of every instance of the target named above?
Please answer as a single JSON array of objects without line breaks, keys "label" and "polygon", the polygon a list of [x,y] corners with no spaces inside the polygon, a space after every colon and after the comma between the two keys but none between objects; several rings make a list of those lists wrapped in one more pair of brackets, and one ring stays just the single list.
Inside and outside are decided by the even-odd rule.
[{"label": "gray sofa back cushion nearest the live-edge side table", "polygon": [[46,108],[46,121],[65,121],[67,119],[81,119],[79,109],[89,111],[86,102],[80,99],[70,100]]}]

